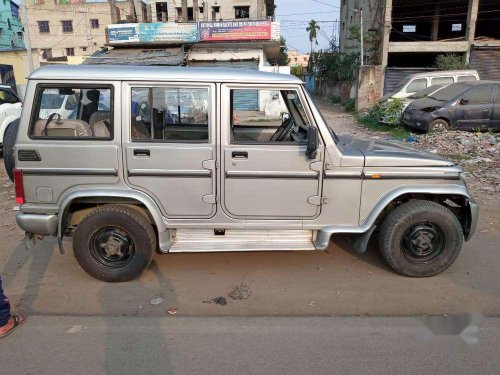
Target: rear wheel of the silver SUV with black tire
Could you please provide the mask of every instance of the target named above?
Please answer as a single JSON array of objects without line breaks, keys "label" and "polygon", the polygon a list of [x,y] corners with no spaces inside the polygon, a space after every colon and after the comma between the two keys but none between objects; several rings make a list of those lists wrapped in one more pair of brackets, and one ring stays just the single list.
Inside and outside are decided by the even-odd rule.
[{"label": "rear wheel of the silver SUV with black tire", "polygon": [[[76,260],[102,281],[128,281],[144,271],[156,250],[151,224],[136,210],[101,206],[78,224],[73,237]],[[116,251],[116,254],[112,254]]]}]

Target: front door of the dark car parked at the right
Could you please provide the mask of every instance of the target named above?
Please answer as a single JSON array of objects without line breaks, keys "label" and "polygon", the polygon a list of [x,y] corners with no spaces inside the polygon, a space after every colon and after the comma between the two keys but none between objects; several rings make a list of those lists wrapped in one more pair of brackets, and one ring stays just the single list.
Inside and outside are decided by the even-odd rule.
[{"label": "front door of the dark car parked at the right", "polygon": [[456,127],[458,129],[487,129],[493,111],[493,86],[474,87],[458,101]]}]

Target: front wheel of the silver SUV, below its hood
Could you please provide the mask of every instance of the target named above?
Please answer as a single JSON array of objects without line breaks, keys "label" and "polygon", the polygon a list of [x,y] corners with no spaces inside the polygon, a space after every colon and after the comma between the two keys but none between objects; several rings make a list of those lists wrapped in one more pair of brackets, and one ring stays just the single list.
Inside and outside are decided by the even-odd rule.
[{"label": "front wheel of the silver SUV, below its hood", "polygon": [[462,226],[449,209],[417,200],[387,215],[380,228],[379,247],[386,262],[400,275],[428,277],[453,264],[463,239]]}]

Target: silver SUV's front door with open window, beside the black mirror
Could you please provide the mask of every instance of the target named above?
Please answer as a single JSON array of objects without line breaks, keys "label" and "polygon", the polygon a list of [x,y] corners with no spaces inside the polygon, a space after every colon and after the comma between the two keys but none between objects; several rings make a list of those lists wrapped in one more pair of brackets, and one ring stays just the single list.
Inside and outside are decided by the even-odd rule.
[{"label": "silver SUV's front door with open window, beside the black mirror", "polygon": [[[237,98],[258,91],[248,110]],[[307,129],[316,126],[300,86],[222,85],[221,203],[249,219],[314,218],[321,208],[323,145],[306,155]]]}]

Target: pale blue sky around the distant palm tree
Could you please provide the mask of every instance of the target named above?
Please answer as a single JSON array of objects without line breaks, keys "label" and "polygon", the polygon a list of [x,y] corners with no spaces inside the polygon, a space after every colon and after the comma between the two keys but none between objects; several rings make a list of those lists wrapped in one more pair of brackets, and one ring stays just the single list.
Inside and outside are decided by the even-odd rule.
[{"label": "pale blue sky around the distant palm tree", "polygon": [[281,34],[286,38],[289,49],[308,53],[311,50],[307,24],[314,19],[320,25],[318,46],[315,50],[328,47],[333,27],[332,22],[340,18],[340,0],[275,0],[276,20],[281,22]]}]

